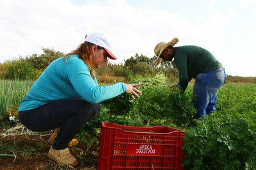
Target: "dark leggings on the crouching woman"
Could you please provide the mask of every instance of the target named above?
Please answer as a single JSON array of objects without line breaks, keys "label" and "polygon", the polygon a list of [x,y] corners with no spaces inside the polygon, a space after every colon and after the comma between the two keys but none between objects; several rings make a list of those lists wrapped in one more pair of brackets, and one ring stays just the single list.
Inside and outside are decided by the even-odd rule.
[{"label": "dark leggings on the crouching woman", "polygon": [[20,111],[19,120],[29,130],[42,132],[60,127],[52,144],[55,150],[63,150],[86,121],[100,112],[100,104],[91,104],[82,98],[56,100],[29,111]]}]

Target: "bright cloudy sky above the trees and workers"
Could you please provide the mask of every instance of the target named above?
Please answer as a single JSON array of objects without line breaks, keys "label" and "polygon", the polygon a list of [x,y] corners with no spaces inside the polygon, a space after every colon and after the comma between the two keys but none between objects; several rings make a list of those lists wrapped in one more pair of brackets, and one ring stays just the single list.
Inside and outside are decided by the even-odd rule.
[{"label": "bright cloudy sky above the trees and workers", "polygon": [[256,0],[0,0],[0,63],[70,52],[88,33],[111,40],[124,59],[151,58],[158,42],[198,45],[223,64],[228,75],[256,77]]}]

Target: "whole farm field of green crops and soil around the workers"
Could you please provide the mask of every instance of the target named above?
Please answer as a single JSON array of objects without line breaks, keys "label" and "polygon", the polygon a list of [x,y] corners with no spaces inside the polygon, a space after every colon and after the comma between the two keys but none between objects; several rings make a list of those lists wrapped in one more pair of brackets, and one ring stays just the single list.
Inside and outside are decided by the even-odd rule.
[{"label": "whole farm field of green crops and soil around the workers", "polygon": [[[17,106],[32,83],[0,81],[0,169],[73,169],[58,166],[47,158],[51,147],[47,140],[52,131],[31,132],[9,120],[9,114],[16,116]],[[70,148],[79,161],[75,169],[97,169],[102,121],[185,130],[185,169],[255,169],[256,84],[227,82],[219,92],[216,113],[200,121],[193,120],[192,87],[193,83],[189,84],[184,95],[168,87],[148,88],[143,97],[127,108],[122,106],[125,97],[102,105],[95,120],[84,125],[76,136],[79,144]]]}]

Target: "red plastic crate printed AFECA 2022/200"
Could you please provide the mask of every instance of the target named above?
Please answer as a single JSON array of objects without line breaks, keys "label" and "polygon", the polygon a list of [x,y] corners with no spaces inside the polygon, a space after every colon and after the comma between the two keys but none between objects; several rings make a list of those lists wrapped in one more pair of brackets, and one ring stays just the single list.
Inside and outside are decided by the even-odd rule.
[{"label": "red plastic crate printed AFECA 2022/200", "polygon": [[98,169],[184,169],[184,130],[102,122]]}]

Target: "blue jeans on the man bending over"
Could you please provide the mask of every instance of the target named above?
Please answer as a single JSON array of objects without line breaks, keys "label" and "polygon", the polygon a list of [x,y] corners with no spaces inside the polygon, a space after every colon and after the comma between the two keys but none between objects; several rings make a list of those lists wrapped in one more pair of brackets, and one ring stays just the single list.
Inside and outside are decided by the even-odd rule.
[{"label": "blue jeans on the man bending over", "polygon": [[227,75],[222,68],[196,75],[193,87],[193,104],[197,109],[196,119],[216,111],[218,91],[226,80]]}]

